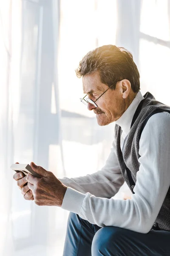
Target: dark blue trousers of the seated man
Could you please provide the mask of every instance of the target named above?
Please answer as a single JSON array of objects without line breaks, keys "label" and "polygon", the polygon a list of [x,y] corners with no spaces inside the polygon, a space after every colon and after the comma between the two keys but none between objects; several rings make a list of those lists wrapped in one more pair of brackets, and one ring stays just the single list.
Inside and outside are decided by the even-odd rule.
[{"label": "dark blue trousers of the seated man", "polygon": [[170,256],[170,232],[98,227],[70,212],[63,256]]}]

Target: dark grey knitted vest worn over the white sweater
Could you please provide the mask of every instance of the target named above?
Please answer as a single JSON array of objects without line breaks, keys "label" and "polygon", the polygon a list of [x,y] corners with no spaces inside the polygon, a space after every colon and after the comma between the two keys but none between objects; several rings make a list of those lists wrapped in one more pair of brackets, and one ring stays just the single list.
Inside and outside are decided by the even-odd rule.
[{"label": "dark grey knitted vest worn over the white sweater", "polygon": [[[144,99],[139,103],[139,106],[136,109],[131,123],[130,131],[125,138],[122,150],[120,148],[122,129],[119,125],[115,125],[116,152],[119,166],[122,175],[132,193],[134,193],[133,189],[136,184],[136,174],[139,171],[140,166],[140,163],[138,162],[140,157],[139,140],[142,130],[150,116],[163,111],[170,113],[170,107],[156,101],[153,95],[147,92],[144,95]],[[167,129],[169,129],[169,127],[167,127]],[[167,195],[164,199],[152,229],[170,231],[170,188],[168,189]]]}]

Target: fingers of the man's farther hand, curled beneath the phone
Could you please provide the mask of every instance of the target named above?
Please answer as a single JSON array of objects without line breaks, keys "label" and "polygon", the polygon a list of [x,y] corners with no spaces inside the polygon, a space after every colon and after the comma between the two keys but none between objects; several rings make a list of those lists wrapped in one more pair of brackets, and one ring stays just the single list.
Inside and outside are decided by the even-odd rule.
[{"label": "fingers of the man's farther hand, curled beneath the phone", "polygon": [[21,193],[23,194],[24,198],[26,200],[34,200],[32,191],[28,188],[28,185],[27,185],[28,182],[26,180],[26,175],[23,172],[16,172],[13,178],[14,180],[17,180],[17,185],[21,189]]}]

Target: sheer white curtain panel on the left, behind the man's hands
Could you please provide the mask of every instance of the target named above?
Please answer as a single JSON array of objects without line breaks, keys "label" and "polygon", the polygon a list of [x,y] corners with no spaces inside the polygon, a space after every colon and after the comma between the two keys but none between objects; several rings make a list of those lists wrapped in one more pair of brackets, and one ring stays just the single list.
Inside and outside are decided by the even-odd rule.
[{"label": "sheer white curtain panel on the left, behind the man's hands", "polygon": [[[64,176],[57,93],[58,1],[0,2],[0,255],[56,255],[62,218],[25,201],[11,163],[31,160]],[[48,29],[48,26],[50,29]],[[46,124],[46,125],[45,125]],[[43,140],[42,140],[43,138]],[[58,158],[56,163],[56,158]],[[57,228],[56,228],[57,227]],[[54,240],[55,239],[55,240]]]}]

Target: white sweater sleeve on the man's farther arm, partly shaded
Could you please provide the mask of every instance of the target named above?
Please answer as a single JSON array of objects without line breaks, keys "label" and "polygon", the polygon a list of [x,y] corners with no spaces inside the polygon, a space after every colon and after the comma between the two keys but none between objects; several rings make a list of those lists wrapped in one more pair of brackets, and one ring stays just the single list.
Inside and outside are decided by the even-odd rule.
[{"label": "white sweater sleeve on the man's farther arm, partly shaded", "polygon": [[105,166],[98,172],[83,177],[59,179],[65,186],[69,186],[82,193],[91,193],[96,197],[111,198],[124,183],[116,155],[116,138],[114,136],[111,153]]}]

